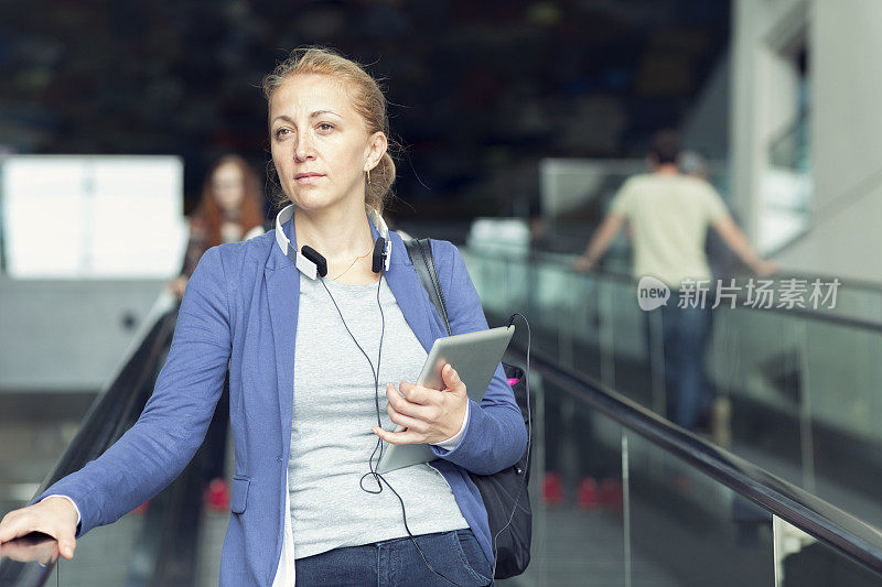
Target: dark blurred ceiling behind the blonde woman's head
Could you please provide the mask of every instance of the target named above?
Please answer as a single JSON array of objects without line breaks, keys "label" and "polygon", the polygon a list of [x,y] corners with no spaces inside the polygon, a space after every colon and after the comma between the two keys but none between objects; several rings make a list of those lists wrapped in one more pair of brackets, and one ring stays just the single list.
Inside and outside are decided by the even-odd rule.
[{"label": "dark blurred ceiling behind the blonde woman's head", "polygon": [[384,78],[409,216],[510,211],[534,197],[545,156],[641,155],[688,111],[727,46],[730,7],[30,0],[2,11],[0,145],[180,154],[192,205],[217,155],[266,164],[260,78],[291,48],[323,44]]}]

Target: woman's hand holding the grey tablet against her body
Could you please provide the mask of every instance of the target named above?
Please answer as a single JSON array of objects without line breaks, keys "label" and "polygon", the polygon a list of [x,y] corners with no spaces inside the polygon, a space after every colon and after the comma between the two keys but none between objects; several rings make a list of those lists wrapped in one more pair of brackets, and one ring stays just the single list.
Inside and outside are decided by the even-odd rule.
[{"label": "woman's hand holding the grey tablet against her body", "polygon": [[469,407],[465,383],[450,363],[441,369],[441,378],[445,387],[442,391],[407,381],[401,381],[398,390],[387,384],[386,412],[405,430],[388,432],[374,426],[374,434],[390,444],[438,444],[460,432]]}]

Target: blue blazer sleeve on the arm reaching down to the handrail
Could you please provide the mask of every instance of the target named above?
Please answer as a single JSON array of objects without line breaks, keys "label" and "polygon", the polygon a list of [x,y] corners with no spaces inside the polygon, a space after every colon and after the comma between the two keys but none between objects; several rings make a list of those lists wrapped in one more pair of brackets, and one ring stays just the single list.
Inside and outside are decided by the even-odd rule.
[{"label": "blue blazer sleeve on the arm reaching down to the handrail", "polygon": [[202,444],[230,357],[226,283],[219,250],[212,247],[187,282],[169,356],[138,421],[98,458],[31,502],[53,493],[69,497],[82,515],[77,537],[159,493]]}]

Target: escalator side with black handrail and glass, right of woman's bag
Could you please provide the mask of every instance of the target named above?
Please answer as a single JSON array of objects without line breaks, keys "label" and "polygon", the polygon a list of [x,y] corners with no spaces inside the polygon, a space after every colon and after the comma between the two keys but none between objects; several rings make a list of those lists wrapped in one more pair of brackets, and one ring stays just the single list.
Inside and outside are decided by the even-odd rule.
[{"label": "escalator side with black handrail and glass, right of woman's bag", "polygon": [[[537,413],[569,402],[574,452],[591,450],[593,472],[621,479],[621,499],[537,507],[519,584],[882,585],[875,528],[541,350],[531,367]],[[537,467],[555,441],[541,427]]]}]

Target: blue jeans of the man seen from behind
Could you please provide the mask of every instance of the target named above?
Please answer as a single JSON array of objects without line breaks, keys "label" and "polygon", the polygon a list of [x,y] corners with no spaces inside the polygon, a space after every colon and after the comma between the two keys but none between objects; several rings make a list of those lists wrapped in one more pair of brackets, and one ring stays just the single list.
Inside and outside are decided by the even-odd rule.
[{"label": "blue jeans of the man seen from behind", "polygon": [[[711,309],[677,307],[676,300],[676,292],[671,292],[671,302],[652,312],[662,312],[667,415],[675,424],[695,430],[713,401],[704,373]],[[647,325],[649,319],[653,317],[647,314]]]}]

